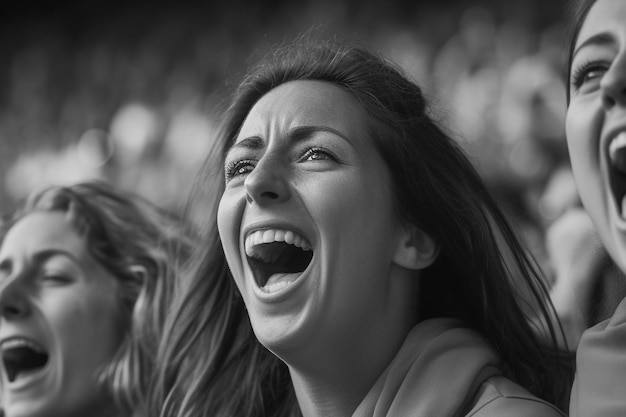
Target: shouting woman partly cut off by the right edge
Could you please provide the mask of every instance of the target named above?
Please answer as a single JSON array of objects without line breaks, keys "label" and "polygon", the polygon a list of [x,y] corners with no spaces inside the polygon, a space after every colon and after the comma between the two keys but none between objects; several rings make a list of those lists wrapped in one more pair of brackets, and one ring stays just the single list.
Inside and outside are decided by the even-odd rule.
[{"label": "shouting woman partly cut off by the right edge", "polygon": [[[580,1],[572,24],[566,118],[572,169],[602,243],[626,272],[626,2]],[[586,284],[572,291],[585,297]],[[626,415],[626,300],[583,334],[576,368],[572,416]]]}]

